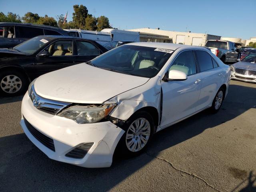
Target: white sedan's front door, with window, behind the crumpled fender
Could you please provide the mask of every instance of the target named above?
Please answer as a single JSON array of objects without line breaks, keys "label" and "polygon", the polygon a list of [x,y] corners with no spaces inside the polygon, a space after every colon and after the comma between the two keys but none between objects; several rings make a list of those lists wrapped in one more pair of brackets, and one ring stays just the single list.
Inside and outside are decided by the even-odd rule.
[{"label": "white sedan's front door, with window, behind the crumpled fender", "polygon": [[196,112],[201,89],[201,76],[197,73],[196,60],[192,50],[181,52],[170,70],[180,70],[188,75],[184,81],[161,82],[163,128]]}]

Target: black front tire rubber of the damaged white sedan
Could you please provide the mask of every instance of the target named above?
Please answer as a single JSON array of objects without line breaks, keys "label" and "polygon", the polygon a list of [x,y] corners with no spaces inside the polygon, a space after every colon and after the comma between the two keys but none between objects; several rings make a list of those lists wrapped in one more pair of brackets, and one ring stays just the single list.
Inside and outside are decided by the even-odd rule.
[{"label": "black front tire rubber of the damaged white sedan", "polygon": [[[144,145],[144,147],[141,150],[132,152],[131,150],[128,149],[128,146],[126,144],[126,134],[128,133],[128,129],[129,129],[130,125],[138,118],[144,118],[144,119],[148,120],[148,122],[150,124],[150,135],[149,135],[148,141],[146,142],[146,144]],[[123,136],[121,137],[121,139],[118,142],[118,145],[115,150],[115,153],[118,153],[118,154],[116,154],[116,155],[117,156],[122,155],[124,157],[134,157],[134,156],[138,156],[139,154],[144,152],[144,150],[147,148],[148,144],[152,140],[152,136],[154,134],[154,126],[155,126],[154,120],[148,112],[139,111],[139,112],[136,112],[135,114],[133,114],[122,126],[122,129],[125,131],[125,133],[123,134]],[[141,137],[141,136],[137,136],[137,137]]]}]

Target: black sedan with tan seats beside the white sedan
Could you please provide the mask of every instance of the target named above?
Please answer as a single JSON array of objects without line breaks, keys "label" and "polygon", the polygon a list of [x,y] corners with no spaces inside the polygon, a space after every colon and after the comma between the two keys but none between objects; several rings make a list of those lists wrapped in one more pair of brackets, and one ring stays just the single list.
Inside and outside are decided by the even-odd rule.
[{"label": "black sedan with tan seats beside the white sedan", "polygon": [[26,92],[38,76],[87,62],[108,51],[92,40],[70,36],[38,36],[12,50],[0,49],[0,95]]}]

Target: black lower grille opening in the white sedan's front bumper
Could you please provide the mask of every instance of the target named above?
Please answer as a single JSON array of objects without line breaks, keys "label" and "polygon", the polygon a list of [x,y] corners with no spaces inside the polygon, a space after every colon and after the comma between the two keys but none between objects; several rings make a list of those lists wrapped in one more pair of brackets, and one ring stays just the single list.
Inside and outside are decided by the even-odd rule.
[{"label": "black lower grille opening in the white sedan's front bumper", "polygon": [[[23,117],[24,118],[24,117]],[[40,131],[38,131],[36,128],[34,128],[25,118],[24,122],[29,130],[29,132],[44,146],[49,148],[50,150],[55,152],[54,142],[51,138],[46,136],[45,134],[42,134]]]}]

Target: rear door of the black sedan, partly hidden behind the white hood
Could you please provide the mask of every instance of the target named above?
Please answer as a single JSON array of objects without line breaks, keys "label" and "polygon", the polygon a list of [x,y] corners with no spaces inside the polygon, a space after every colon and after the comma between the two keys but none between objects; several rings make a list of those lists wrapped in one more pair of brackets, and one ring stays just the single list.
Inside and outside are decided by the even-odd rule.
[{"label": "rear door of the black sedan, partly hidden behind the white hood", "polygon": [[88,62],[101,53],[100,49],[89,41],[76,40],[76,64]]}]

